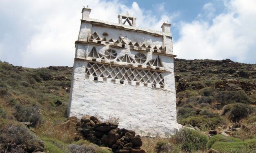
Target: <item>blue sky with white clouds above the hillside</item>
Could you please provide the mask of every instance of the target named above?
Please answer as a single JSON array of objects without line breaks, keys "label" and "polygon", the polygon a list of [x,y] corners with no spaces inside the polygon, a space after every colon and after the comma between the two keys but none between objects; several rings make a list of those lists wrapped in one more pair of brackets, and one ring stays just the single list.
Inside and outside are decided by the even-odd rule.
[{"label": "blue sky with white clouds above the hillside", "polygon": [[176,58],[256,63],[256,0],[0,0],[0,61],[73,66],[82,7],[90,17],[161,31],[171,23]]}]

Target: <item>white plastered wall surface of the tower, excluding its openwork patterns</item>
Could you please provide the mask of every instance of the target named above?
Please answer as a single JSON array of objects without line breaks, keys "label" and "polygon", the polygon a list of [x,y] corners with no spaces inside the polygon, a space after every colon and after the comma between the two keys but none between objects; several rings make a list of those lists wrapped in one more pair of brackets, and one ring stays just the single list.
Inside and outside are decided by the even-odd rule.
[{"label": "white plastered wall surface of the tower, excluding its openwork patterns", "polygon": [[[156,37],[144,33],[136,33],[120,29],[107,28],[102,26],[93,26],[82,22],[78,40],[87,41],[89,34],[94,31],[101,37],[124,39],[125,41],[144,43],[146,46],[165,46],[169,53],[172,53],[171,37]],[[103,36],[103,33],[108,33]],[[101,79],[94,81],[93,76],[87,76],[85,69],[87,66],[87,56],[93,46],[97,52],[104,55],[105,50],[112,48],[108,45],[98,46],[94,44],[76,44],[76,59],[73,66],[73,75],[71,82],[71,91],[69,97],[69,116],[81,118],[85,114],[99,114],[104,120],[109,116],[115,115],[120,118],[119,127],[140,131],[151,134],[173,134],[175,129],[179,129],[176,122],[176,94],[174,81],[174,61],[173,57],[153,54],[153,49],[149,52],[143,52],[147,56],[147,61],[160,57],[165,72],[162,75],[165,79],[164,88],[154,88],[151,86],[136,85],[132,81],[130,84],[120,84],[111,79],[103,82]],[[125,54],[134,57],[138,51],[129,48],[112,48],[117,52],[117,58]],[[82,60],[84,59],[84,60]],[[97,59],[96,61],[100,61]],[[114,61],[122,65],[122,62]],[[142,66],[146,67],[146,63]],[[127,64],[127,63],[123,63]],[[137,66],[138,63],[133,63]]]}]

